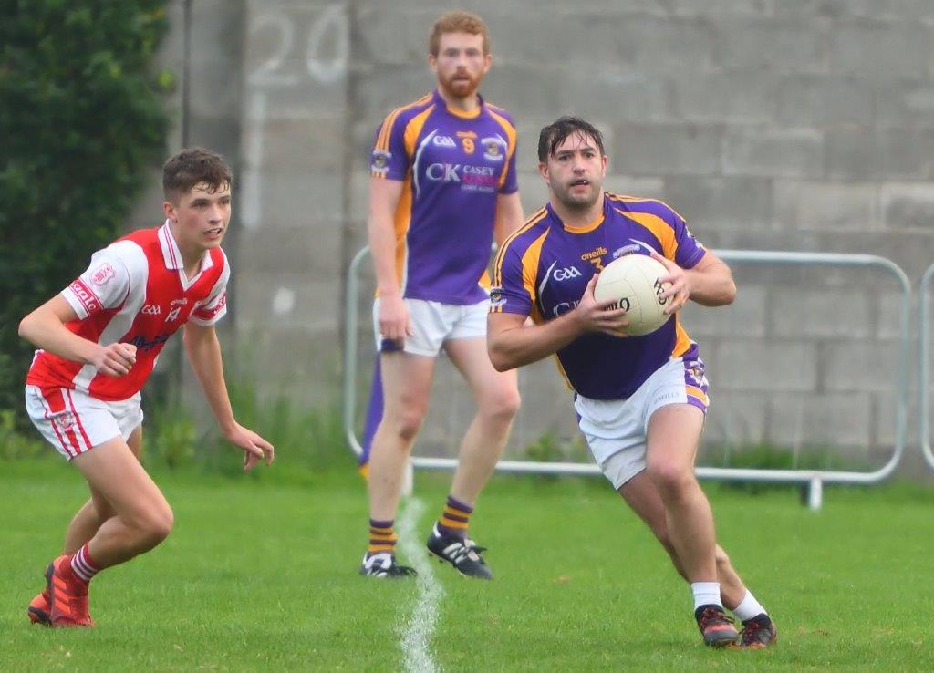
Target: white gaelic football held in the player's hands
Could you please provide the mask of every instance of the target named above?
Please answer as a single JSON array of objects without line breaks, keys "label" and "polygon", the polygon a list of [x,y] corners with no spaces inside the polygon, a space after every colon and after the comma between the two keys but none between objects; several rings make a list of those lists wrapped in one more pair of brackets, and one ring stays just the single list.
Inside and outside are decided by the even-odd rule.
[{"label": "white gaelic football held in the player's hands", "polygon": [[626,255],[607,264],[597,278],[593,296],[597,301],[616,300],[611,308],[625,308],[630,336],[651,334],[668,322],[671,315],[662,313],[671,297],[658,295],[670,283],[659,283],[658,278],[668,273],[665,266],[647,255]]}]

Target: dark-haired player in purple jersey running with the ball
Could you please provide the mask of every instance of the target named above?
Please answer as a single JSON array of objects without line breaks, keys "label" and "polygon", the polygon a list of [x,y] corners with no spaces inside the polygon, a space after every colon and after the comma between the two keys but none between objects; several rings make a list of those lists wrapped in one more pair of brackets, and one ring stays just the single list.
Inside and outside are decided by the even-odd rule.
[{"label": "dark-haired player in purple jersey running with the ball", "polygon": [[[694,474],[707,379],[677,312],[688,300],[732,302],[729,267],[665,203],[603,189],[607,157],[587,121],[564,117],[546,126],[538,154],[550,200],[497,256],[490,359],[507,372],[557,355],[595,460],[690,582],[704,642],[771,645],[775,624],[716,544],[714,515]],[[671,284],[659,296],[672,318],[644,336],[627,336],[625,310],[593,294],[603,266],[626,254],[658,259],[667,269],[659,281]],[[742,634],[725,608],[743,623]]]}]

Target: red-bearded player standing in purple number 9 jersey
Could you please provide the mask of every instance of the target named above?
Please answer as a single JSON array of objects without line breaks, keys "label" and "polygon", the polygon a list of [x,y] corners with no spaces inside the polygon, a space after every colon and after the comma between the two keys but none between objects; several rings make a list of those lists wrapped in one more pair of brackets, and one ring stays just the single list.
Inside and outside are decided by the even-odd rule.
[{"label": "red-bearded player standing in purple number 9 jersey", "polygon": [[[488,579],[468,535],[476,498],[492,473],[519,406],[516,372],[497,372],[486,348],[490,245],[522,223],[517,133],[477,88],[491,57],[486,24],[448,12],[434,23],[428,63],[436,88],[393,110],[371,154],[368,231],[376,274],[374,327],[382,417],[368,474],[369,546],[361,574],[402,577],[394,520],[412,443],[444,349],[474,393],[477,412],[429,551],[460,573]],[[439,508],[440,509],[440,508]]]}]

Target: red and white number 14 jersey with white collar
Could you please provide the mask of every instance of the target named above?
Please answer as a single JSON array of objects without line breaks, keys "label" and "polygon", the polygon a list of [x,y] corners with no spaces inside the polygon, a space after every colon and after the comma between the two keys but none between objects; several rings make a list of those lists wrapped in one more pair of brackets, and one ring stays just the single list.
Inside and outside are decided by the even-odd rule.
[{"label": "red and white number 14 jersey with white collar", "polygon": [[124,376],[98,374],[93,365],[39,350],[26,383],[87,392],[99,400],[125,400],[146,384],[156,358],[186,322],[209,326],[227,313],[230,264],[220,248],[205,252],[201,269],[185,276],[168,221],[141,229],[95,252],[88,270],[62,290],[78,319],[65,327],[102,345],[134,344],[136,363]]}]

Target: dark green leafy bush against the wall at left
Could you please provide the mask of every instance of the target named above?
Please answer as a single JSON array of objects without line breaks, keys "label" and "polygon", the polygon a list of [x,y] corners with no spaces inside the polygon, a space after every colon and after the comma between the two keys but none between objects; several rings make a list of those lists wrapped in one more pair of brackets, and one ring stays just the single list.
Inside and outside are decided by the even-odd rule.
[{"label": "dark green leafy bush against the wall at left", "polygon": [[0,410],[22,406],[23,315],[120,233],[163,159],[165,0],[0,0]]}]

